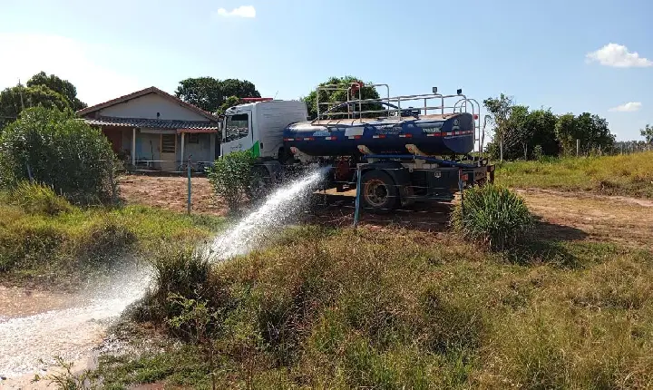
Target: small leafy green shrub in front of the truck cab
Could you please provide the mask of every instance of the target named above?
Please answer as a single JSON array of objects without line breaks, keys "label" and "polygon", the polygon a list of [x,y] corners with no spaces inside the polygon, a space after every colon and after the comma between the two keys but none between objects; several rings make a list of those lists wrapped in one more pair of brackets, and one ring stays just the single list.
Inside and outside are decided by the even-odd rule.
[{"label": "small leafy green shrub in front of the truck cab", "polygon": [[253,177],[254,158],[249,151],[236,151],[220,157],[209,171],[209,180],[230,211],[239,210],[247,198]]}]

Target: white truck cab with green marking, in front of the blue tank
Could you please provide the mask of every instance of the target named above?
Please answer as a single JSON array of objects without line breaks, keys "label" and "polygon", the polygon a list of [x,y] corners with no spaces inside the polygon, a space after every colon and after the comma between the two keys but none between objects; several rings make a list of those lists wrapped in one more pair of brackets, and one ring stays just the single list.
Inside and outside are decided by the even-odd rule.
[{"label": "white truck cab with green marking, in front of the blue tank", "polygon": [[277,159],[286,126],[307,121],[307,116],[301,101],[261,100],[230,107],[222,122],[220,156],[250,150],[254,157]]}]

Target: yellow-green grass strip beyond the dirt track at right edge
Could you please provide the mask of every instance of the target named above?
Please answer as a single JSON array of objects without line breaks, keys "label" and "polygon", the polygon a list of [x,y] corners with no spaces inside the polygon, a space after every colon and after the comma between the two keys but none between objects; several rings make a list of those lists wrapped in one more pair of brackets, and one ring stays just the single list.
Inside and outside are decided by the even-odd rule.
[{"label": "yellow-green grass strip beyond the dirt track at right edge", "polygon": [[496,182],[512,188],[589,190],[653,198],[653,151],[629,155],[504,162]]}]

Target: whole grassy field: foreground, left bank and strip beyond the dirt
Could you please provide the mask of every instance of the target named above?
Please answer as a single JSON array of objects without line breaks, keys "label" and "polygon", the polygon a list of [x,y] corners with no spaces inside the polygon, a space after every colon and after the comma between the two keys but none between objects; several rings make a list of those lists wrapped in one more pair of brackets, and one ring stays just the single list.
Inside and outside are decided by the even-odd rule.
[{"label": "whole grassy field: foreground, left bank and strip beyond the dirt", "polygon": [[[647,156],[506,163],[497,179],[649,197]],[[607,178],[611,190],[592,184]],[[541,192],[527,199],[540,220],[509,250],[447,229],[304,225],[214,263],[190,246],[223,219],[3,202],[0,272],[50,280],[151,260],[157,287],[117,331],[137,349],[161,341],[102,356],[93,375],[109,389],[211,388],[211,373],[217,388],[650,388],[653,231],[629,223],[649,208]]]}]

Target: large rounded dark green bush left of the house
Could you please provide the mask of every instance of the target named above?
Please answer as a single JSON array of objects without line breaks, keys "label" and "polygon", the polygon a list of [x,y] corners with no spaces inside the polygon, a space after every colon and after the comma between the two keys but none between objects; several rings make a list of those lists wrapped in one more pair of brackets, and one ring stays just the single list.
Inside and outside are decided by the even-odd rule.
[{"label": "large rounded dark green bush left of the house", "polygon": [[107,203],[115,161],[100,131],[57,109],[26,109],[0,135],[0,185],[9,189],[32,179],[76,203]]}]

